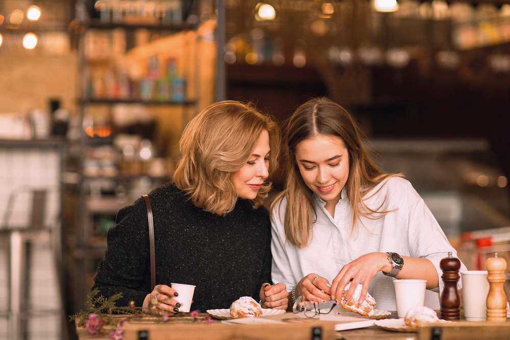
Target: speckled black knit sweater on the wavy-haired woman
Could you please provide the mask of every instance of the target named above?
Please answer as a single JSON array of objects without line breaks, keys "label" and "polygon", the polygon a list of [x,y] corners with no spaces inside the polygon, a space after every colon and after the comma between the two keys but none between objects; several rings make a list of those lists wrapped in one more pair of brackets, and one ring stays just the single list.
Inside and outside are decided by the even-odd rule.
[{"label": "speckled black knit sweater on the wavy-haired woman", "polygon": [[[239,199],[219,216],[196,207],[173,184],[149,193],[156,246],[156,284],[194,284],[191,310],[229,308],[241,296],[259,300],[271,277],[271,224],[265,207]],[[142,306],[150,293],[147,210],[143,198],[122,208],[108,232],[94,288],[122,293],[117,306]]]}]

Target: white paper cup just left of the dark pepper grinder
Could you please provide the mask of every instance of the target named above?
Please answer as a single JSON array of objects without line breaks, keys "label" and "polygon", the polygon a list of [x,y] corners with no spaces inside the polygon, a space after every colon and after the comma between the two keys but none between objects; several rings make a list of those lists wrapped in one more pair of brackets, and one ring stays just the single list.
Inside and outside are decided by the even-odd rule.
[{"label": "white paper cup just left of the dark pepper grinder", "polygon": [[405,313],[413,307],[421,307],[425,303],[425,287],[427,280],[394,280],[397,315],[405,317]]}]

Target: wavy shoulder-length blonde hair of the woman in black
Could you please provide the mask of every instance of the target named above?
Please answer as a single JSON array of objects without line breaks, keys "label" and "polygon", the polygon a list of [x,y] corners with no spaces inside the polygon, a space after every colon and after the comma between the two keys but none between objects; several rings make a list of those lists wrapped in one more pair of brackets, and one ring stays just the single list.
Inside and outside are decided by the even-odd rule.
[{"label": "wavy shoulder-length blonde hair of the woman in black", "polygon": [[[179,144],[182,158],[173,181],[192,202],[213,214],[225,215],[236,205],[238,195],[232,175],[248,162],[261,133],[269,134],[269,174],[277,167],[279,128],[274,119],[251,103],[225,100],[203,109],[186,126]],[[262,204],[271,189],[266,179],[253,207]]]}]

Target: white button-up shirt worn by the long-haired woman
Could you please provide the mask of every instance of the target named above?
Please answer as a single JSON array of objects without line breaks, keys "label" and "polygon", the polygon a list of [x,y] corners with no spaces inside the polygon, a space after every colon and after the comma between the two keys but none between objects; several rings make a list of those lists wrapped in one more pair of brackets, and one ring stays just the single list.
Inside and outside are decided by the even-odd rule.
[{"label": "white button-up shirt worn by the long-haired woman", "polygon": [[[365,197],[365,203],[373,210],[396,210],[378,219],[361,216],[363,224],[356,222],[349,237],[352,208],[346,189],[342,190],[341,199],[335,207],[335,218],[326,211],[325,201],[314,194],[317,219],[312,215],[315,222],[305,248],[297,248],[286,241],[283,221],[287,197],[276,202],[272,212],[273,282],[285,283],[289,291],[310,273],[321,275],[331,282],[344,265],[364,254],[396,252],[401,256],[427,258],[436,267],[439,288],[425,292],[425,305],[439,309],[438,293],[442,293],[444,288],[439,263],[449,251],[456,256],[456,251],[429,208],[411,183],[401,177],[383,181]],[[379,208],[381,204],[382,208]],[[467,269],[461,263],[460,271],[463,270]],[[378,272],[370,281],[368,292],[376,301],[375,308],[396,310],[393,280]],[[461,288],[460,280],[457,288]]]}]

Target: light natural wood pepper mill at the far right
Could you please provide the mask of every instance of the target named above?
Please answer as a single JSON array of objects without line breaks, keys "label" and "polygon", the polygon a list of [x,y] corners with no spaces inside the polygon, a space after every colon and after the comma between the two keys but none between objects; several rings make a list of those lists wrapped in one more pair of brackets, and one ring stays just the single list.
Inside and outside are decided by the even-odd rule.
[{"label": "light natural wood pepper mill at the far right", "polygon": [[487,280],[489,281],[489,294],[487,295],[487,321],[506,321],[506,295],[503,290],[505,282],[506,260],[498,257],[490,257],[485,262],[487,268]]}]

